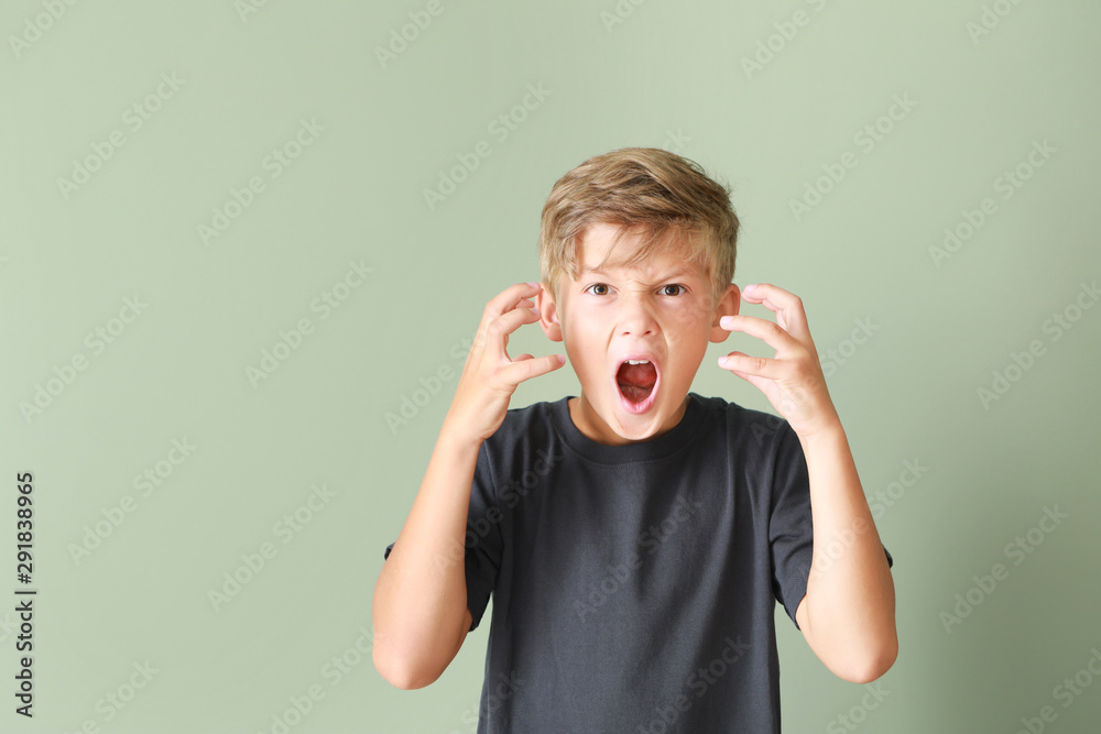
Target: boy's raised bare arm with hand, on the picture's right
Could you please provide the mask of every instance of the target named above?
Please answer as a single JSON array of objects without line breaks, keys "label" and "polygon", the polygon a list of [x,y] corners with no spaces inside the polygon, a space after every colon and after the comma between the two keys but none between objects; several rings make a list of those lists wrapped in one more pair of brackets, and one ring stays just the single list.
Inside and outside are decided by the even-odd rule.
[{"label": "boy's raised bare arm with hand, on the picture's right", "polygon": [[[719,326],[764,340],[776,355],[735,351],[719,363],[760,388],[788,420],[803,446],[810,480],[814,554],[795,621],[835,675],[851,682],[874,680],[898,655],[894,581],[826,388],[803,302],[770,283],[746,285],[741,295],[774,311],[776,322],[739,315],[732,306]],[[843,548],[839,556],[838,545]]]}]

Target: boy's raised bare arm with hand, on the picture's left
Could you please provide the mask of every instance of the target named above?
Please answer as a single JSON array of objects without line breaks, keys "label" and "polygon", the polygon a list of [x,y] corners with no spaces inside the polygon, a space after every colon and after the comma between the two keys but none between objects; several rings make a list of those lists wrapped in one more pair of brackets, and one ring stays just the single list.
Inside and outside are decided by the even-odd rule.
[{"label": "boy's raised bare arm with hand, on the picture's left", "polygon": [[464,540],[478,451],[503,423],[516,385],[564,364],[505,352],[508,336],[538,318],[531,310],[537,289],[517,283],[487,304],[421,490],[374,585],[372,658],[397,688],[428,686],[462,646],[472,620]]}]

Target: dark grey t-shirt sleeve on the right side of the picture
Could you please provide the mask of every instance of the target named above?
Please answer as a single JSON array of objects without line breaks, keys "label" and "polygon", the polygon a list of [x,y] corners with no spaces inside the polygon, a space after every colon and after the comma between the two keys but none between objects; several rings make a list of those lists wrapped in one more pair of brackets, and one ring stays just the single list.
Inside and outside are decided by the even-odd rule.
[{"label": "dark grey t-shirt sleeve on the right side of the picture", "polygon": [[[795,612],[807,593],[814,556],[814,523],[810,515],[810,478],[799,437],[786,420],[776,442],[768,524],[772,546],[773,588],[795,627]],[[883,548],[887,567],[894,566],[891,551]]]}]

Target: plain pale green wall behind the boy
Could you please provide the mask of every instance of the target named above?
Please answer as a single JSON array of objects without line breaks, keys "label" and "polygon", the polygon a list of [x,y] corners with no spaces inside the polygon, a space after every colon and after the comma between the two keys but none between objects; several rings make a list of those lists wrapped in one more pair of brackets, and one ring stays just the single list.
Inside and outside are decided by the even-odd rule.
[{"label": "plain pale green wall behind the boy", "polygon": [[[633,12],[611,31],[611,0],[444,0],[383,68],[375,47],[425,3],[272,0],[242,19],[229,0],[80,2],[17,56],[10,36],[45,11],[6,2],[0,595],[17,585],[13,478],[31,470],[40,596],[36,715],[17,716],[6,693],[0,731],[92,720],[111,732],[270,732],[314,683],[325,698],[296,734],[473,731],[488,624],[424,690],[390,687],[367,657],[335,687],[321,675],[370,623],[382,550],[455,380],[396,431],[385,414],[419,377],[458,373],[484,303],[538,276],[553,183],[590,155],[653,145],[733,187],[735,282],[798,294],[822,354],[858,319],[879,327],[829,380],[868,494],[905,460],[929,468],[877,523],[896,559],[902,649],[881,681],[889,698],[859,731],[1009,733],[1051,704],[1049,732],[1097,732],[1101,681],[1068,708],[1053,689],[1101,646],[1101,308],[1058,341],[1042,329],[1101,274],[1101,7],[1002,4],[1012,11],[975,43],[978,0],[624,0]],[[748,78],[742,58],[797,10],[809,24]],[[123,111],[173,72],[184,86],[131,132]],[[528,84],[552,94],[498,141],[487,125]],[[853,135],[894,95],[917,105],[864,154]],[[262,161],[302,118],[325,130],[271,179]],[[66,200],[57,178],[115,129],[126,144]],[[492,155],[429,210],[423,189],[480,140]],[[995,179],[1044,140],[1057,152],[1002,200]],[[788,201],[847,151],[859,165],[796,221]],[[197,226],[253,175],[266,189],[205,245]],[[935,266],[930,245],[986,196],[998,212]],[[350,260],[373,274],[321,321],[310,303]],[[85,336],[134,295],[148,308],[92,354]],[[314,333],[253,387],[246,369],[303,317]],[[1034,339],[1045,354],[984,409],[977,388]],[[711,344],[693,388],[771,410],[715,365],[729,349],[772,354],[743,335]],[[526,327],[510,351],[560,344]],[[20,404],[74,354],[88,369],[24,419]],[[512,405],[578,388],[565,369]],[[184,437],[195,452],[139,496],[132,478]],[[336,495],[282,545],[273,525],[313,483]],[[69,544],[127,494],[138,508],[75,562]],[[1013,566],[1005,544],[1055,505],[1069,517]],[[216,612],[208,590],[265,541],[276,557]],[[940,612],[996,562],[1009,579],[946,632]],[[864,689],[777,621],[785,731],[838,726]],[[0,636],[8,691],[13,637]],[[105,723],[97,701],[145,660],[160,672]]]}]

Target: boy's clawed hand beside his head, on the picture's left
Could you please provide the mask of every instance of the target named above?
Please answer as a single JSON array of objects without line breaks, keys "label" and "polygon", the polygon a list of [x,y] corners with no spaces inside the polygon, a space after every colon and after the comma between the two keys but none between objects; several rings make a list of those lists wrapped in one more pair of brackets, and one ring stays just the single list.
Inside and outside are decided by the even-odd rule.
[{"label": "boy's clawed hand beside his head, on the picture's left", "polygon": [[566,363],[565,355],[534,358],[521,354],[510,359],[504,348],[509,335],[523,324],[539,319],[533,310],[532,297],[539,286],[530,283],[511,285],[486,304],[475,343],[467,354],[459,384],[445,418],[466,438],[484,441],[504,423],[509,401],[516,385],[525,380],[557,370]]}]

